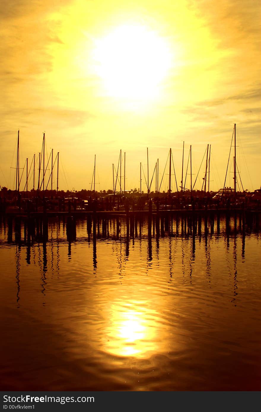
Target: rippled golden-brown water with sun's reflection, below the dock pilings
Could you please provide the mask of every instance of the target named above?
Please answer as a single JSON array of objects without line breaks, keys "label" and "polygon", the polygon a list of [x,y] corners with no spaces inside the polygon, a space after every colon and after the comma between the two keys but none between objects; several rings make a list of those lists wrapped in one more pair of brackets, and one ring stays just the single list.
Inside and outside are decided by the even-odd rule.
[{"label": "rippled golden-brown water with sun's reflection, below the dock pilings", "polygon": [[[2,390],[260,390],[260,235],[0,227]],[[22,227],[23,233],[23,227]]]}]

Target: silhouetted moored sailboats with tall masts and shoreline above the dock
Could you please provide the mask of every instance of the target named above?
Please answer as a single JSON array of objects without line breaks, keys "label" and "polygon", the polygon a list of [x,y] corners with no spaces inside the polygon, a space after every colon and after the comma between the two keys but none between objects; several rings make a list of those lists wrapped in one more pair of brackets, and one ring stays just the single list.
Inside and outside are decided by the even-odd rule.
[{"label": "silhouetted moored sailboats with tall masts and shoreline above the dock", "polygon": [[[96,211],[111,211],[117,207],[119,211],[119,206],[124,209],[132,209],[134,210],[143,210],[146,200],[152,199],[154,203],[159,201],[159,207],[165,209],[179,209],[181,208],[207,208],[212,207],[215,205],[218,207],[225,207],[229,208],[230,205],[234,205],[235,207],[243,207],[244,205],[248,208],[260,208],[261,202],[261,188],[255,190],[254,192],[249,192],[248,190],[244,190],[240,172],[237,167],[237,155],[236,155],[236,124],[234,124],[232,139],[230,143],[230,151],[228,156],[228,165],[226,168],[226,176],[224,180],[223,188],[221,188],[218,192],[210,191],[209,183],[210,183],[210,153],[211,153],[211,145],[207,144],[205,153],[202,158],[202,162],[200,164],[200,168],[195,178],[195,182],[193,183],[193,170],[192,170],[192,146],[190,145],[189,155],[188,155],[188,163],[186,167],[184,167],[184,142],[183,142],[183,153],[182,153],[182,170],[181,170],[181,186],[177,183],[177,176],[174,166],[174,159],[172,154],[172,149],[169,149],[169,153],[167,155],[167,162],[165,164],[164,171],[162,173],[161,181],[159,179],[159,159],[155,162],[155,167],[153,170],[152,176],[149,173],[149,156],[148,156],[148,147],[147,147],[147,173],[144,172],[143,166],[140,162],[140,178],[139,183],[140,187],[139,190],[136,188],[134,190],[125,190],[125,179],[126,179],[126,152],[124,152],[124,156],[122,156],[122,150],[120,150],[119,159],[118,159],[118,167],[115,168],[113,164],[113,190],[101,190],[97,192],[95,190],[95,177],[96,177],[96,155],[94,155],[94,169],[92,174],[92,184],[91,190],[81,190],[77,192],[78,196],[75,196],[75,191],[70,192],[67,190],[66,194],[64,191],[59,191],[59,152],[54,159],[54,151],[51,150],[49,154],[49,158],[46,164],[45,159],[45,152],[46,152],[46,139],[45,133],[43,133],[42,139],[42,148],[41,152],[39,152],[39,160],[38,160],[38,171],[37,171],[37,164],[35,161],[35,154],[33,155],[33,159],[31,162],[31,166],[28,170],[28,158],[26,158],[26,162],[23,168],[20,168],[20,149],[19,149],[19,131],[17,137],[17,152],[16,152],[16,184],[15,190],[7,190],[7,187],[1,187],[0,193],[0,212],[2,211],[5,213],[6,209],[12,208],[19,208],[19,211],[43,211],[46,212],[48,209],[51,211],[68,211],[71,212],[71,208],[74,208],[74,212],[76,211],[92,211],[96,208]],[[226,180],[228,176],[228,166],[231,157],[231,150],[234,150],[233,156],[233,188],[226,187]],[[205,160],[206,156],[206,160]],[[122,158],[124,159],[124,168],[122,170]],[[201,166],[203,161],[205,160],[205,168],[202,171]],[[50,165],[49,165],[50,164]],[[168,173],[165,173],[166,166],[169,164]],[[189,171],[189,164],[190,164],[190,171]],[[48,169],[49,165],[49,169]],[[54,189],[54,166],[57,168],[57,178],[56,183],[57,187],[56,190]],[[22,169],[22,173],[20,172]],[[26,171],[25,171],[26,170]],[[31,177],[30,177],[31,173]],[[49,173],[49,178],[47,174]],[[204,173],[203,183],[201,190],[195,190],[195,185],[198,181],[199,174]],[[21,174],[21,176],[20,176]],[[38,174],[38,179],[36,178],[35,174]],[[21,191],[21,181],[22,176],[25,177],[25,184],[24,189]],[[162,191],[162,181],[164,176],[168,176],[168,189],[167,192]],[[174,177],[174,178],[173,178]],[[47,180],[48,178],[48,180]],[[31,191],[28,190],[28,184],[33,179],[33,187]],[[174,187],[173,182],[174,180]],[[47,183],[46,183],[47,182]],[[146,194],[142,191],[141,183],[145,182],[146,185]],[[153,183],[154,182],[154,183]],[[160,183],[160,184],[159,184]],[[153,191],[152,187],[155,184],[155,192]],[[187,186],[187,187],[186,187]],[[207,187],[208,186],[208,187]],[[49,189],[48,189],[49,187]],[[118,187],[118,192],[117,192]],[[188,188],[189,187],[189,188]],[[204,189],[203,189],[204,187]],[[93,190],[92,190],[93,188]],[[215,196],[214,196],[215,195]],[[146,198],[147,196],[147,198]],[[164,199],[163,199],[164,198]],[[213,201],[213,199],[215,201]],[[94,201],[94,205],[92,205],[92,201]],[[96,201],[96,203],[95,203]],[[127,205],[126,203],[129,202]],[[165,206],[164,206],[165,202]],[[147,204],[148,206],[148,204]],[[41,209],[41,210],[40,210]]]}]

